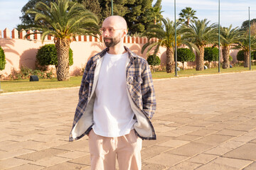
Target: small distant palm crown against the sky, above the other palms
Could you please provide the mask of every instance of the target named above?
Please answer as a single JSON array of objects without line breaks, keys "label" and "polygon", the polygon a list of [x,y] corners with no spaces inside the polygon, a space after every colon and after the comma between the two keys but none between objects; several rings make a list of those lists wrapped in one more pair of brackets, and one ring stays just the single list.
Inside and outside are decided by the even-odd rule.
[{"label": "small distant palm crown against the sky, above the other palms", "polygon": [[186,7],[184,9],[181,10],[181,13],[178,14],[180,16],[180,18],[178,19],[179,21],[181,21],[182,23],[186,23],[187,26],[189,26],[189,21],[193,21],[195,19],[197,19],[196,15],[196,11],[193,10],[191,7]]}]

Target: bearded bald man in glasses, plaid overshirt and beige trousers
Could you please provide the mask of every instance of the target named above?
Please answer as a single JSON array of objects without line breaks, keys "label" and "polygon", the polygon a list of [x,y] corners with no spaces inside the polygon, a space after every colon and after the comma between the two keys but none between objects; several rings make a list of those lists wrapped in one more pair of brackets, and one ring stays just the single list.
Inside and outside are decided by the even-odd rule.
[{"label": "bearded bald man in glasses, plaid overshirt and beige trousers", "polygon": [[150,68],[124,47],[124,18],[106,18],[100,32],[107,48],[85,67],[70,141],[88,135],[91,169],[115,169],[116,158],[119,169],[141,169],[142,140],[156,140]]}]

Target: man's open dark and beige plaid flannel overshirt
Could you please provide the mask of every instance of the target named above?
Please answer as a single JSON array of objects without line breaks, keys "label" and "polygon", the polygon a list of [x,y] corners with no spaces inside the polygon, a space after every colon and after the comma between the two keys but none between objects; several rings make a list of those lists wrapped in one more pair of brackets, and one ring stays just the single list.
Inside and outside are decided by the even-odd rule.
[{"label": "man's open dark and beige plaid flannel overshirt", "polygon": [[[142,132],[140,133],[139,128],[135,128],[135,131],[137,132],[137,135],[141,137],[144,140],[156,140],[156,134],[154,132],[153,125],[151,124],[150,119],[153,117],[154,112],[156,111],[156,97],[154,94],[154,86],[153,81],[151,77],[151,71],[149,68],[149,64],[146,62],[146,60],[142,57],[137,56],[129,50],[127,47],[124,47],[125,50],[127,50],[129,55],[129,64],[127,65],[126,70],[126,76],[127,76],[127,90],[129,92],[130,98],[132,98],[132,101],[130,103],[139,109],[140,115],[135,114],[136,117],[140,118],[142,120],[143,118],[146,119],[148,127],[147,129],[151,130],[151,135],[149,137],[145,137],[142,135]],[[87,109],[87,104],[90,101],[90,98],[93,96],[92,92],[92,86],[94,84],[94,78],[95,78],[95,67],[97,65],[97,61],[100,60],[105,53],[107,52],[108,48],[105,50],[102,50],[102,52],[98,53],[97,55],[90,58],[90,60],[87,62],[87,65],[85,67],[85,72],[82,76],[82,82],[80,86],[79,91],[79,102],[78,106],[75,111],[74,121],[73,121],[73,128],[70,132],[70,141],[78,140],[84,135],[87,135],[90,130],[92,130],[92,120],[90,120],[91,125],[84,130],[82,130],[82,133],[79,132],[79,135],[73,137],[73,130],[75,125],[78,123],[78,121],[82,118],[82,115],[85,114],[85,111]],[[97,83],[97,82],[95,82]],[[91,107],[90,107],[91,108]],[[93,115],[88,116],[88,118],[84,118],[84,120],[92,119]],[[142,116],[141,116],[142,115]],[[139,121],[137,118],[137,121]],[[142,119],[141,119],[142,118]],[[142,120],[144,122],[144,120]],[[82,129],[82,128],[77,128]]]}]

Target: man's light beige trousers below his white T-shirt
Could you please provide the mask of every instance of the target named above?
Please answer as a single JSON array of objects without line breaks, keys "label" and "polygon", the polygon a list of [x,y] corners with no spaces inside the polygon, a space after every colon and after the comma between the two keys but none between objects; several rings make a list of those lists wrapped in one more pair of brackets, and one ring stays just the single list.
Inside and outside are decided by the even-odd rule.
[{"label": "man's light beige trousers below his white T-shirt", "polygon": [[92,170],[114,170],[116,158],[120,170],[142,169],[142,139],[134,130],[121,137],[102,137],[91,130],[88,136]]}]

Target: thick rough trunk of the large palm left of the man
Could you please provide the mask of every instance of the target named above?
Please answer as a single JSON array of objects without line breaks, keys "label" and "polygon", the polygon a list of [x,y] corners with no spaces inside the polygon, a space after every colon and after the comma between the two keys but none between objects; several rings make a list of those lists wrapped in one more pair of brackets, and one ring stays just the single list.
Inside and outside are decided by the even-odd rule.
[{"label": "thick rough trunk of the large palm left of the man", "polygon": [[70,48],[70,40],[57,39],[55,42],[55,47],[57,50],[58,57],[57,79],[58,81],[68,80],[70,79],[68,55]]}]

